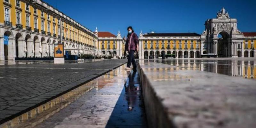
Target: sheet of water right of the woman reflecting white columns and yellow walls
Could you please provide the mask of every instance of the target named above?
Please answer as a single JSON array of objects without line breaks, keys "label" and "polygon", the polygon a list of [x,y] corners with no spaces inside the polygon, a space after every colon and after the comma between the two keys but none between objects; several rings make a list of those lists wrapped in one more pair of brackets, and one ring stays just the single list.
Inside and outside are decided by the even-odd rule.
[{"label": "sheet of water right of the woman reflecting white columns and yellow walls", "polygon": [[[256,60],[154,60],[173,65],[166,70],[199,70],[256,80]],[[148,60],[144,61],[145,63]],[[151,69],[152,70],[152,69]],[[161,69],[153,69],[161,70]]]}]

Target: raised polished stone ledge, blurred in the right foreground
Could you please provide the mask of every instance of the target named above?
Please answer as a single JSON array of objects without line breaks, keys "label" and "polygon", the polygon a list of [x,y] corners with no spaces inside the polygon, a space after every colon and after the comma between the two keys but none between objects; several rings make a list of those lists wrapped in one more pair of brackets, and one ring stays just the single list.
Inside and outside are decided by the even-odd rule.
[{"label": "raised polished stone ledge, blurred in the right foreground", "polygon": [[256,81],[139,61],[151,128],[256,126]]}]

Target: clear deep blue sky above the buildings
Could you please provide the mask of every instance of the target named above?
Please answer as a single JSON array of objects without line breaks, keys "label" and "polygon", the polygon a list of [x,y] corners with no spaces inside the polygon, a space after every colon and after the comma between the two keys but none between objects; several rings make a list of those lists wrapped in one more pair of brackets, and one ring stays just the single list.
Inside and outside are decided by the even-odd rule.
[{"label": "clear deep blue sky above the buildings", "polygon": [[[132,26],[137,34],[204,31],[204,22],[222,7],[238,20],[242,32],[256,32],[256,0],[44,0],[92,31],[126,36]],[[70,3],[71,2],[71,3]]]}]

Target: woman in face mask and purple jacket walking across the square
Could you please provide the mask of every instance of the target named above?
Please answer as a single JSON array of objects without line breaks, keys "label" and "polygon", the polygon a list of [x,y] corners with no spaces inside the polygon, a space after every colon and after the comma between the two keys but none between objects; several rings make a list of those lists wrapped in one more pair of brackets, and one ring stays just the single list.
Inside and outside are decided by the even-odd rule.
[{"label": "woman in face mask and purple jacket walking across the square", "polygon": [[129,53],[128,55],[128,62],[125,70],[131,70],[131,63],[133,66],[133,69],[137,68],[136,62],[134,60],[134,52],[139,51],[139,39],[136,33],[134,33],[132,26],[129,26],[127,28],[128,34],[127,38],[125,40],[125,49],[124,49],[124,56],[126,55],[126,51]]}]

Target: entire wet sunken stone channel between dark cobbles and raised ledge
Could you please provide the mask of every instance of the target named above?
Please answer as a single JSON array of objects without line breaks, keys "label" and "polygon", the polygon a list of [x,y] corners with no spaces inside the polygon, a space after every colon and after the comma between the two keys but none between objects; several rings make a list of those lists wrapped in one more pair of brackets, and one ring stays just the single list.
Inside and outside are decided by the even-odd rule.
[{"label": "entire wet sunken stone channel between dark cobbles and raised ledge", "polygon": [[[132,74],[133,74],[133,78],[131,76]],[[139,89],[140,84],[136,82],[135,83],[132,82],[134,80],[139,81],[137,78],[138,75],[134,77],[135,74],[136,73],[130,73],[130,72],[124,71],[124,65],[122,65],[86,84],[83,84],[77,87],[76,89],[71,90],[70,92],[67,92],[51,101],[48,101],[47,103],[41,106],[38,106],[18,117],[13,118],[8,122],[5,122],[4,124],[1,124],[0,128],[54,127],[54,125],[56,124],[65,124],[65,123],[66,123],[65,125],[69,125],[69,124],[72,124],[72,120],[65,122],[64,120],[65,116],[63,115],[66,114],[67,117],[65,118],[70,119],[72,115],[74,117],[74,114],[77,114],[77,113],[79,114],[80,112],[80,111],[79,112],[73,111],[74,109],[72,108],[75,107],[76,109],[79,110],[79,109],[84,109],[84,108],[81,108],[83,106],[86,109],[89,109],[88,111],[99,112],[99,113],[90,112],[89,114],[88,113],[86,114],[86,112],[82,112],[88,117],[98,116],[99,123],[95,124],[95,119],[93,119],[93,121],[91,120],[90,122],[90,119],[87,118],[88,120],[85,121],[86,122],[85,124],[84,123],[80,124],[82,126],[84,125],[91,125],[93,127],[96,125],[100,125],[102,127],[109,127],[109,126],[111,127],[113,125],[125,126],[125,125],[131,124],[129,122],[134,122],[131,119],[129,120],[129,118],[132,118],[131,115],[134,115],[134,113],[136,113],[138,118],[141,118],[141,119],[137,119],[137,123],[135,124],[133,123],[132,126],[146,127],[145,113],[143,108],[143,99],[141,99],[140,97],[141,95],[140,89]],[[128,79],[127,79],[127,76],[128,76]],[[134,96],[132,94],[138,94],[138,95]],[[86,99],[85,97],[89,97],[89,99],[87,98],[87,100],[85,100]],[[72,107],[72,104],[73,104],[73,107]],[[102,110],[100,111],[96,110],[98,108],[97,107],[95,108],[95,106],[99,106],[100,104],[103,104]],[[121,106],[123,107],[122,110],[120,109]],[[92,109],[95,109],[95,110],[92,110]],[[104,111],[103,109],[106,109],[106,111]],[[96,114],[96,115],[90,115],[90,114]],[[104,119],[100,118],[102,114],[106,116]],[[120,122],[120,118],[119,117],[116,118],[116,116],[118,115],[120,116],[125,114],[128,120],[125,119],[126,117],[121,117],[121,122]],[[52,122],[54,118],[58,118],[58,120],[55,120]],[[60,121],[60,118],[63,120]],[[84,120],[84,117],[82,120]],[[115,122],[117,124],[115,124]]]}]

